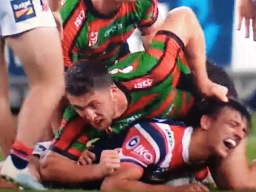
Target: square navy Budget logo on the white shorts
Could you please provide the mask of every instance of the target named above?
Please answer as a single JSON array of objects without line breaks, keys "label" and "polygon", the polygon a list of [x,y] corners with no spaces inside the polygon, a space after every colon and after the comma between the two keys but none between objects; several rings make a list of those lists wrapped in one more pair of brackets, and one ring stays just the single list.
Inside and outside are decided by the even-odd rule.
[{"label": "square navy Budget logo on the white shorts", "polygon": [[32,0],[11,1],[15,22],[27,20],[35,17],[35,9]]}]

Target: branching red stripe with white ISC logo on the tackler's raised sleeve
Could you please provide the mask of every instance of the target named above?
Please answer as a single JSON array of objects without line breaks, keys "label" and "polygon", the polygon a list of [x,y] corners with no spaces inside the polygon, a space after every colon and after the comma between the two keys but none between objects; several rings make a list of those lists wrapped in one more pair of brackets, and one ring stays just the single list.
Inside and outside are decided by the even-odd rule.
[{"label": "branching red stripe with white ISC logo on the tackler's raised sleeve", "polygon": [[[156,35],[156,37],[154,37],[154,41],[164,41],[166,44],[166,48],[163,52],[156,51],[155,49],[153,49],[153,51],[150,49],[147,50],[147,54],[152,57],[160,58],[158,65],[146,76],[122,82],[122,85],[127,87],[128,90],[131,91],[140,88],[145,89],[152,87],[165,80],[170,74],[173,74],[172,86],[176,87],[178,79],[180,78],[180,71],[178,69],[176,59],[179,52],[181,52],[181,48],[174,39],[171,39],[166,35]],[[150,81],[150,85],[137,86],[138,83],[143,83],[145,80]],[[144,84],[147,84],[147,82]]]}]

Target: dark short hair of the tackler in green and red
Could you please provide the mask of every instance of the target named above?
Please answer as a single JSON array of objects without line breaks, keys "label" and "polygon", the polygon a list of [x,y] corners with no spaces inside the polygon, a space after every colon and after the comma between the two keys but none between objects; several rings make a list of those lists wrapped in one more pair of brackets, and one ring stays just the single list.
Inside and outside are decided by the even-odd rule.
[{"label": "dark short hair of the tackler in green and red", "polygon": [[67,69],[65,83],[68,94],[81,96],[94,89],[110,87],[113,81],[103,63],[80,60]]}]

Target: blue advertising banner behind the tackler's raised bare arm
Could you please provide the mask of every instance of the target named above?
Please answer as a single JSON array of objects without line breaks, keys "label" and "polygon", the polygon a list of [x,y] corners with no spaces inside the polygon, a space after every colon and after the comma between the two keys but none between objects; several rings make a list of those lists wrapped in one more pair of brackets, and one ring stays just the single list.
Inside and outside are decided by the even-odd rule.
[{"label": "blue advertising banner behind the tackler's raised bare arm", "polygon": [[234,0],[158,0],[169,9],[188,6],[204,30],[208,58],[218,65],[231,63]]}]

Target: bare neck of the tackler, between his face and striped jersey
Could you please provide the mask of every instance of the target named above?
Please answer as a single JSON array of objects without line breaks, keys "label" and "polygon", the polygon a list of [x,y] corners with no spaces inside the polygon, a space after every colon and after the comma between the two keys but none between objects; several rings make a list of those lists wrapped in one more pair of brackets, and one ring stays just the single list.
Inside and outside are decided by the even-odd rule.
[{"label": "bare neck of the tackler, between his face and striped jersey", "polygon": [[115,116],[114,119],[119,118],[128,107],[128,100],[120,89],[117,88],[116,101],[115,101]]}]

